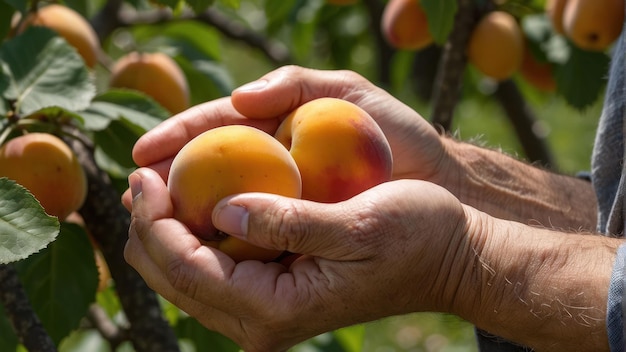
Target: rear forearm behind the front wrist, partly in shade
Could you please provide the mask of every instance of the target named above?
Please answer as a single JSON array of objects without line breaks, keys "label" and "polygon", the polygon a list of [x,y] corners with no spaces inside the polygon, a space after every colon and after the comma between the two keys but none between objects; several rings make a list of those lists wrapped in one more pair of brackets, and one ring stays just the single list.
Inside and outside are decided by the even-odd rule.
[{"label": "rear forearm behind the front wrist, partly in shade", "polygon": [[564,231],[595,230],[590,182],[526,164],[501,152],[443,139],[451,155],[443,185],[492,216]]}]

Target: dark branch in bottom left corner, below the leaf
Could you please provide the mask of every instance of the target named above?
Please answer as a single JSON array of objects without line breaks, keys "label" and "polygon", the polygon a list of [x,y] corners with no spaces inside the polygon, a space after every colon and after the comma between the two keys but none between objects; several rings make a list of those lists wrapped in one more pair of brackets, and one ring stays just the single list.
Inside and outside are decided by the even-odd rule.
[{"label": "dark branch in bottom left corner, below the leaf", "polygon": [[17,271],[0,265],[0,302],[4,305],[19,341],[30,352],[53,352],[56,346],[33,311]]}]

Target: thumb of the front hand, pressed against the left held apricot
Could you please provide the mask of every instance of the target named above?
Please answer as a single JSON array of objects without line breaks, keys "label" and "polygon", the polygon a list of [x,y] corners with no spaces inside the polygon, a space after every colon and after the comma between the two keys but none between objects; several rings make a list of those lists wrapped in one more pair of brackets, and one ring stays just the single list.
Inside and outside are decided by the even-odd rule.
[{"label": "thumb of the front hand, pressed against the left held apricot", "polygon": [[260,247],[345,260],[353,247],[346,236],[349,221],[339,215],[343,206],[242,193],[222,199],[212,220],[216,228]]}]

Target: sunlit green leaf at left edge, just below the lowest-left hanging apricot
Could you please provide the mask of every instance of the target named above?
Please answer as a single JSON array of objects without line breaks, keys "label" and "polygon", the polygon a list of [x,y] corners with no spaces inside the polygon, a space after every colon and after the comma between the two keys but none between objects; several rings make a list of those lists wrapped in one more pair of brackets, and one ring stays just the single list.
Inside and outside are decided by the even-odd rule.
[{"label": "sunlit green leaf at left edge, just below the lowest-left hanging apricot", "polygon": [[59,234],[59,221],[15,181],[0,178],[0,264],[24,259]]}]

